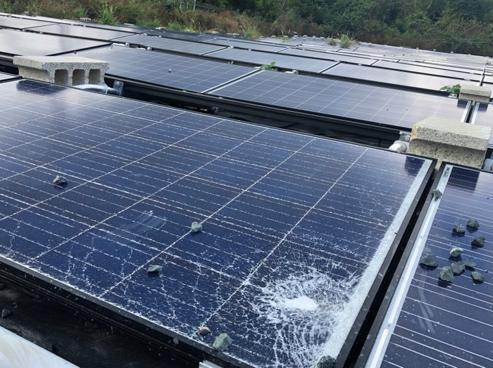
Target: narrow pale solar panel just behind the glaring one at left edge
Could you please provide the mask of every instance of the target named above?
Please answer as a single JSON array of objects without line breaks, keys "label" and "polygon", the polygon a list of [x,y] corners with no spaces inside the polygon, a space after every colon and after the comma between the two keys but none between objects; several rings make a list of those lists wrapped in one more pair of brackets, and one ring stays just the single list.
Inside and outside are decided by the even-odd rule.
[{"label": "narrow pale solar panel just behind the glaring one at left edge", "polygon": [[29,30],[33,32],[42,32],[45,34],[59,34],[61,36],[89,38],[92,40],[114,40],[124,36],[129,36],[128,32],[120,32],[114,31],[112,29],[101,29],[71,24],[43,25],[42,27],[34,27]]}]

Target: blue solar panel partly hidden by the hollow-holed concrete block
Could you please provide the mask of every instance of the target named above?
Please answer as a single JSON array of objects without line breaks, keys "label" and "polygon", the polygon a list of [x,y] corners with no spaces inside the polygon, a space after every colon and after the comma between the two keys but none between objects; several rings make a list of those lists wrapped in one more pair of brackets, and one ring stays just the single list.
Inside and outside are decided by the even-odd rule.
[{"label": "blue solar panel partly hidden by the hollow-holed concrete block", "polygon": [[110,62],[108,75],[199,93],[256,71],[247,66],[129,47],[108,47],[77,54]]}]

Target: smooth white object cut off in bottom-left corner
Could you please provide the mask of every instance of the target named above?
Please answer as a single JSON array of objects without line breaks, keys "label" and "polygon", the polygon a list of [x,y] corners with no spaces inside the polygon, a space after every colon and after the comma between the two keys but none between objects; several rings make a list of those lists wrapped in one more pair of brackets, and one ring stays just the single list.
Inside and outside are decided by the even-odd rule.
[{"label": "smooth white object cut off in bottom-left corner", "polygon": [[77,368],[76,365],[0,327],[1,368]]}]

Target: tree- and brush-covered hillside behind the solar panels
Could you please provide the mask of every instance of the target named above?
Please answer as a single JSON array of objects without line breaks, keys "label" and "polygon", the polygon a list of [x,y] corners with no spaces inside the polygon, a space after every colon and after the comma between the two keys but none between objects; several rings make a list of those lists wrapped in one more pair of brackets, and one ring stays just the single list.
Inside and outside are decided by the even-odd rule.
[{"label": "tree- and brush-covered hillside behind the solar panels", "polygon": [[250,38],[292,32],[493,54],[493,0],[21,0],[0,11]]}]

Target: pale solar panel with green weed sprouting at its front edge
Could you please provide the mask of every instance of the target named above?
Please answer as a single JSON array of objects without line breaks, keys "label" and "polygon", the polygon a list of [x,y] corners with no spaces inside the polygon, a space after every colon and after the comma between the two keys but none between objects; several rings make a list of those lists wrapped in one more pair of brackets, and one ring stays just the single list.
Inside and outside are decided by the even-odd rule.
[{"label": "pale solar panel with green weed sprouting at its front edge", "polygon": [[231,60],[233,62],[245,62],[256,66],[261,66],[264,64],[268,65],[275,62],[275,66],[279,68],[309,71],[313,73],[320,73],[337,64],[337,62],[329,60],[318,60],[302,58],[299,56],[282,55],[279,53],[267,53],[262,51],[249,51],[241,49],[224,49],[209,53],[207,56],[222,60]]}]

